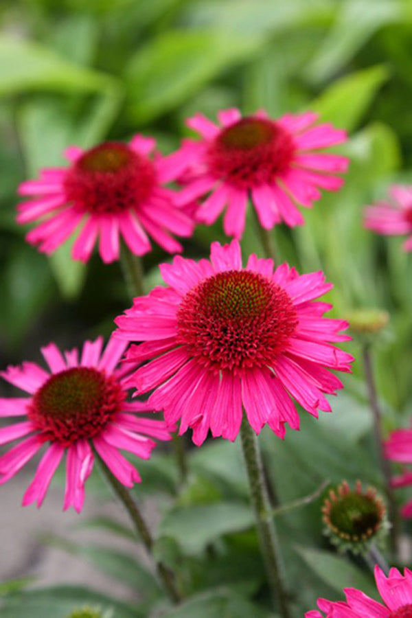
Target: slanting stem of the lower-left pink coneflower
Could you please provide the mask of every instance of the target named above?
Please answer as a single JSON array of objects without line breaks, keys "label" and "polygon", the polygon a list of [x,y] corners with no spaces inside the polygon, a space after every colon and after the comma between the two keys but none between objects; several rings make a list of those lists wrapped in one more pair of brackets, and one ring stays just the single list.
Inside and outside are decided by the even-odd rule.
[{"label": "slanting stem of the lower-left pink coneflower", "polygon": [[[104,477],[108,481],[108,484],[111,485],[111,488],[117,498],[119,498],[124,505],[130,519],[133,522],[133,525],[135,526],[137,534],[141,538],[150,556],[152,556],[154,541],[144,518],[141,516],[137,504],[133,500],[132,496],[130,496],[127,488],[124,487],[124,485],[117,480],[114,474],[112,474],[111,470],[108,469],[104,461],[102,461],[102,458],[99,455],[97,455],[97,457]],[[165,567],[165,565],[160,561],[156,562],[156,570],[157,575],[159,575],[159,580],[161,580],[163,588],[170,597],[171,601],[175,604],[181,602],[181,594],[176,588],[176,577],[174,573],[170,571],[168,567]]]}]

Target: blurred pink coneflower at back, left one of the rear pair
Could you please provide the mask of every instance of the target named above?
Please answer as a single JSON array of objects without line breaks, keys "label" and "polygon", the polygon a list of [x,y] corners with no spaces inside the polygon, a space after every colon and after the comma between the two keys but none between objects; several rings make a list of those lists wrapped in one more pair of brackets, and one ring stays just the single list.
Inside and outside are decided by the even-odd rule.
[{"label": "blurred pink coneflower at back, left one of the rear pair", "polygon": [[40,179],[19,187],[19,194],[36,199],[18,206],[17,221],[41,220],[27,241],[49,255],[82,225],[72,249],[72,257],[82,262],[89,260],[98,237],[104,262],[119,259],[119,238],[136,255],[150,251],[148,236],[165,251],[180,252],[170,232],[190,236],[193,222],[162,186],[168,165],[149,157],[153,148],[155,140],[141,135],[128,145],[108,141],[86,151],[68,148],[69,168],[43,170]]}]

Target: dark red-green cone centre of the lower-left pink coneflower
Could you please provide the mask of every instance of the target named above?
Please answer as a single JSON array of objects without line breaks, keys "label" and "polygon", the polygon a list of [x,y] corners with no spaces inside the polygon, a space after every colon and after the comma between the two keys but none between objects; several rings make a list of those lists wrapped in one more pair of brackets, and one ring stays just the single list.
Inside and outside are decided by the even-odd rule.
[{"label": "dark red-green cone centre of the lower-left pink coneflower", "polygon": [[27,416],[43,439],[70,446],[79,438],[91,438],[122,411],[125,391],[113,376],[91,367],[72,367],[36,391]]}]

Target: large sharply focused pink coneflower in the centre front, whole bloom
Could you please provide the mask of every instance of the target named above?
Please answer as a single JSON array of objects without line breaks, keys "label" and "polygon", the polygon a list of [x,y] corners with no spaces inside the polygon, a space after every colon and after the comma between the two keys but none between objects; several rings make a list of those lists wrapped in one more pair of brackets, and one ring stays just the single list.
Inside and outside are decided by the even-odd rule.
[{"label": "large sharply focused pink coneflower in the centre front, whole bloom", "polygon": [[312,415],[330,411],[323,393],[341,381],[326,368],[350,371],[350,354],[330,345],[345,341],[347,322],[325,319],[331,305],[313,302],[332,288],[323,273],[298,275],[287,264],[251,255],[246,268],[238,241],[211,244],[211,260],[161,264],[168,284],[135,299],[115,320],[117,336],[132,345],[127,358],[152,360],[128,378],[163,409],[167,422],[181,419],[201,444],[214,436],[236,438],[242,406],[256,433],[265,423],[280,437],[284,424],[299,428],[291,395]]}]

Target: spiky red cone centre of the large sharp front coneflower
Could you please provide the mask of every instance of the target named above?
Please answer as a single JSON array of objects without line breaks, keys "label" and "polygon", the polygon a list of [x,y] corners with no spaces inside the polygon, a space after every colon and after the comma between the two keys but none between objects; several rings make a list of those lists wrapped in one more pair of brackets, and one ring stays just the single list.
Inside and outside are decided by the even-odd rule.
[{"label": "spiky red cone centre of the large sharp front coneflower", "polygon": [[185,295],[177,313],[179,342],[216,371],[270,365],[296,325],[286,292],[250,271],[205,279]]}]

